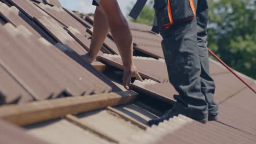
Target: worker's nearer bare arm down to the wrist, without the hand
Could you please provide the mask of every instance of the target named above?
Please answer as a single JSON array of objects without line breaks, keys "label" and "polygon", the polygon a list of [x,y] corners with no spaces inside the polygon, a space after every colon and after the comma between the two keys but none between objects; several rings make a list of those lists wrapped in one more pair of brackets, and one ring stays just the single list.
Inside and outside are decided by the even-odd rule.
[{"label": "worker's nearer bare arm down to the wrist, without the hand", "polygon": [[121,12],[116,0],[101,0],[100,7],[104,10],[109,24],[110,32],[117,44],[123,66],[125,69],[132,68],[133,43],[128,23]]}]

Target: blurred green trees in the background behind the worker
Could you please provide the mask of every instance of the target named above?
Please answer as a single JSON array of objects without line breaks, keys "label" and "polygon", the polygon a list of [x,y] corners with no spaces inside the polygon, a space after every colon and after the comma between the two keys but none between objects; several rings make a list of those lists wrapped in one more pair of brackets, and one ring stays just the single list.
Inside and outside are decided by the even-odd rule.
[{"label": "blurred green trees in the background behind the worker", "polygon": [[[231,68],[256,79],[256,0],[208,2],[208,46]],[[131,21],[152,25],[153,18],[150,1],[138,19]]]}]

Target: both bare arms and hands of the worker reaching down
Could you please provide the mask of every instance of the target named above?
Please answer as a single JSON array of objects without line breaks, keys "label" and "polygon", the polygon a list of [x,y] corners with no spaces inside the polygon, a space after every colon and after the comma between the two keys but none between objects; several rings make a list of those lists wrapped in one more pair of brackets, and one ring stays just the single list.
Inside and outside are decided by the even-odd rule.
[{"label": "both bare arms and hands of the worker reaching down", "polygon": [[[138,71],[132,61],[133,42],[130,28],[123,13],[121,13],[117,0],[101,0],[100,8],[97,8],[96,10],[96,12],[101,11],[101,13],[96,13],[98,17],[96,17],[94,21],[92,45],[90,47],[91,50],[89,51],[88,56],[91,57],[91,61],[94,61],[97,56],[97,52],[100,51],[100,45],[103,44],[104,38],[107,37],[107,30],[109,27],[123,61],[124,87],[126,89],[129,89],[128,85],[130,83],[131,77],[136,77],[136,79],[142,81],[142,78],[138,74]],[[99,16],[100,14],[104,14],[104,16]],[[100,28],[100,26],[104,24],[105,26],[103,26],[103,28]],[[101,31],[103,32],[98,29],[101,29]],[[102,35],[100,35],[101,33]]]}]

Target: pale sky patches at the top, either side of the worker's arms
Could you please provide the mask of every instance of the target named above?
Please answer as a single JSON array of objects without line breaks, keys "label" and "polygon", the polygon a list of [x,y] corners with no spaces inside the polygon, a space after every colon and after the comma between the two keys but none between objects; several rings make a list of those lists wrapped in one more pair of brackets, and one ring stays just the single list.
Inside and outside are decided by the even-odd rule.
[{"label": "pale sky patches at the top, either side of the worker's arms", "polygon": [[[59,0],[62,4],[62,7],[78,10],[80,13],[94,13],[95,7],[91,5],[92,0]],[[105,0],[106,1],[106,0]],[[107,0],[110,1],[110,0]],[[118,0],[121,10],[124,15],[129,14],[129,10],[127,8],[131,6],[132,3],[135,3],[136,0]]]}]

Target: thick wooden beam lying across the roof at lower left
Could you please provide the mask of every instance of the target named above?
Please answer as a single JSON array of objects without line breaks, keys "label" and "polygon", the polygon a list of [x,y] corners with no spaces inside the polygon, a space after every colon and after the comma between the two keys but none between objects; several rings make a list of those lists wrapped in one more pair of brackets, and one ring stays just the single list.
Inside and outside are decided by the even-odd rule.
[{"label": "thick wooden beam lying across the roof at lower left", "polygon": [[0,107],[0,118],[10,123],[28,125],[67,114],[131,103],[137,98],[137,95],[136,92],[126,91],[7,105]]}]

